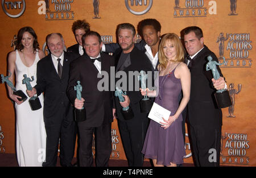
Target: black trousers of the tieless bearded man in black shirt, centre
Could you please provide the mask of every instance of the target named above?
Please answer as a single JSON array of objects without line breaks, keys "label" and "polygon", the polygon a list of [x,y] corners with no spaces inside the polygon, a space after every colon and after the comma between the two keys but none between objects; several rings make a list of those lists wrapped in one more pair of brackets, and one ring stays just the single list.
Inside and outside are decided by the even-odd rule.
[{"label": "black trousers of the tieless bearded man in black shirt, centre", "polygon": [[142,167],[144,155],[142,147],[147,133],[148,118],[133,118],[128,121],[118,120],[123,148],[130,167]]}]

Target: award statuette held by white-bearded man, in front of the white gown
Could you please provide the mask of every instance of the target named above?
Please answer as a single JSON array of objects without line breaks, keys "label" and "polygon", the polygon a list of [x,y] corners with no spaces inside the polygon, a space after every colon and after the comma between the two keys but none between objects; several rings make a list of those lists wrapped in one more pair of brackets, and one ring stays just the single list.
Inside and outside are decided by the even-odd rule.
[{"label": "award statuette held by white-bearded man, in front of the white gown", "polygon": [[[26,87],[27,87],[27,90],[32,90],[32,86],[30,84],[31,81],[34,81],[34,76],[32,76],[32,80],[27,77],[27,74],[23,74],[23,80],[22,80],[22,84],[26,84]],[[34,111],[34,110],[38,110],[42,107],[41,103],[40,103],[40,100],[38,97],[36,96],[32,96],[30,98],[30,100],[28,100],[29,104],[30,104],[30,107],[31,107],[31,110]]]}]

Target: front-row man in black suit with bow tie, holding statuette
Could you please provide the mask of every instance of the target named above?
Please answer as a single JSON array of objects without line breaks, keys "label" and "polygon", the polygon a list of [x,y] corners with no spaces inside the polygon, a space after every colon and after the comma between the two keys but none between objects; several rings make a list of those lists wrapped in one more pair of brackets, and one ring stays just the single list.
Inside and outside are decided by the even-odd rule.
[{"label": "front-row man in black suit with bow tie, holding statuette", "polygon": [[[111,154],[111,123],[113,122],[113,91],[110,91],[110,67],[114,67],[114,58],[100,53],[102,42],[97,32],[90,31],[82,36],[82,42],[88,56],[82,55],[71,63],[68,82],[68,97],[76,109],[84,106],[86,121],[77,122],[80,135],[80,166],[93,165],[92,140],[96,140],[96,166],[108,166]],[[100,75],[108,74],[108,84],[99,85]],[[114,82],[114,74],[113,82]],[[74,86],[77,81],[82,85],[82,98],[76,98]],[[113,83],[114,85],[114,83]],[[106,90],[101,89],[101,86]]]}]

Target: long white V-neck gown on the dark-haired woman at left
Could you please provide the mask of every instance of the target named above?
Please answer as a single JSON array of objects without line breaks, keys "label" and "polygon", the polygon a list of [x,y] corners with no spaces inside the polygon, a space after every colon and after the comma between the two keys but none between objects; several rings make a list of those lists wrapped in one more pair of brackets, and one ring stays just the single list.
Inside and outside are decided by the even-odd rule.
[{"label": "long white V-neck gown on the dark-haired woman at left", "polygon": [[[26,67],[20,59],[19,52],[16,50],[15,74],[16,74],[16,90],[22,90],[26,93],[26,85],[22,84],[23,74],[27,77],[34,76],[34,81],[30,82],[31,86],[36,85],[36,64],[39,61],[38,52],[34,64]],[[32,78],[31,78],[32,79]],[[28,97],[28,96],[27,96]],[[42,108],[32,111],[27,98],[20,105],[15,103],[16,109],[16,154],[19,166],[42,166],[46,158],[46,129],[43,120],[43,94],[39,99]]]}]

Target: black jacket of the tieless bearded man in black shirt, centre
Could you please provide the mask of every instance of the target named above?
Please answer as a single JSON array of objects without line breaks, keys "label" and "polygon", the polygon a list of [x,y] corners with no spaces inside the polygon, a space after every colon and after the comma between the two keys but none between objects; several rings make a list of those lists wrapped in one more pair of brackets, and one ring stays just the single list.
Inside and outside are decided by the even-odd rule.
[{"label": "black jacket of the tieless bearded man in black shirt, centre", "polygon": [[[121,56],[122,53],[122,49],[119,48],[114,52],[114,57],[115,57],[115,67],[117,67],[118,64],[118,60]],[[143,53],[142,51],[140,51],[139,49],[137,49],[136,47],[133,48],[133,51],[130,52],[130,61],[127,62],[125,61],[125,64],[123,64],[121,66],[121,71],[126,73],[127,78],[127,90],[126,90],[126,94],[127,96],[129,96],[130,98],[130,107],[133,109],[134,115],[135,117],[141,117],[141,119],[143,117],[147,116],[147,113],[141,113],[140,110],[140,106],[139,106],[139,101],[142,100],[143,96],[141,95],[141,92],[135,91],[135,80],[138,80],[137,78],[133,77],[133,79],[130,78],[129,76],[129,71],[134,72],[134,71],[153,71],[154,68],[152,67],[152,64],[150,62],[150,60],[148,60],[147,56],[145,55],[145,53]],[[116,82],[119,80],[120,78],[116,78]],[[133,81],[133,90],[129,90],[129,81]],[[125,91],[124,91],[125,92]],[[118,97],[114,97],[115,98],[115,107],[116,107],[116,111],[118,114],[118,119],[122,119],[122,114],[121,114],[121,109],[122,106],[119,104],[119,100]]]}]

